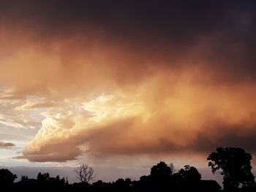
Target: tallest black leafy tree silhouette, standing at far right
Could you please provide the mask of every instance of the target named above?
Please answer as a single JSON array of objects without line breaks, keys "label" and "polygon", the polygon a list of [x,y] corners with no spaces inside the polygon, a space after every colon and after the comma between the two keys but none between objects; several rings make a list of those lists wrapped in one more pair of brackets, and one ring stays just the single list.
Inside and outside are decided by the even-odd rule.
[{"label": "tallest black leafy tree silhouette, standing at far right", "polygon": [[238,147],[218,147],[208,158],[208,166],[213,173],[221,169],[223,175],[223,186],[225,191],[234,191],[243,187],[255,185],[255,177],[251,169],[252,155]]}]

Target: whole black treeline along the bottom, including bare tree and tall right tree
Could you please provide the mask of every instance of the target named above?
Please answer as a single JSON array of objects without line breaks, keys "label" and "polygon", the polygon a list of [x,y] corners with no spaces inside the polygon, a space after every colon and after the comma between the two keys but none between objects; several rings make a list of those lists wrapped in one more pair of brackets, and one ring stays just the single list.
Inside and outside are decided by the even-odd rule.
[{"label": "whole black treeline along the bottom, including bare tree and tall right tree", "polygon": [[[212,172],[219,171],[223,175],[224,191],[256,191],[250,161],[252,155],[241,148],[219,147],[208,155],[208,166]],[[151,167],[150,174],[140,177],[140,180],[118,179],[105,183],[102,180],[94,182],[94,172],[86,164],[78,165],[75,173],[80,183],[69,183],[65,177],[50,177],[49,173],[37,174],[37,179],[22,176],[18,182],[16,174],[8,169],[0,169],[1,191],[222,191],[215,180],[202,180],[195,166],[186,165],[174,171],[173,164],[160,161]]]}]

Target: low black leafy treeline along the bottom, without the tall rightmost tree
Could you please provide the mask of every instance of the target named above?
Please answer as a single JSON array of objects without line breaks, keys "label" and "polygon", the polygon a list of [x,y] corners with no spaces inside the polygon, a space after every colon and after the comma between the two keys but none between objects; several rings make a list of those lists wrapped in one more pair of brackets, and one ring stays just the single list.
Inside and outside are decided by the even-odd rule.
[{"label": "low black leafy treeline along the bottom, without the tall rightmost tree", "polygon": [[178,172],[173,173],[173,165],[167,165],[161,161],[159,164],[151,167],[149,175],[140,177],[138,181],[132,181],[129,178],[118,179],[112,183],[105,183],[98,180],[94,183],[80,182],[70,184],[65,177],[50,177],[49,173],[37,174],[37,179],[30,179],[22,176],[20,181],[14,183],[17,176],[7,169],[1,169],[1,172],[8,175],[2,180],[1,186],[5,185],[6,190],[37,191],[37,190],[61,190],[61,191],[219,191],[220,186],[216,181],[210,181],[211,187],[204,185],[201,180],[201,174],[194,166],[184,166]]}]

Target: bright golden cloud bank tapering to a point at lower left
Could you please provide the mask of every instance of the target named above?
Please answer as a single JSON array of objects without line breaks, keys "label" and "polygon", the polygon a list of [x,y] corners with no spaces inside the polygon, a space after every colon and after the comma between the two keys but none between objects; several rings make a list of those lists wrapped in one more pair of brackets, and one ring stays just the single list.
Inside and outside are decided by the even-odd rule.
[{"label": "bright golden cloud bank tapering to a point at lower left", "polygon": [[[78,114],[62,110],[57,118],[46,118],[20,158],[67,161],[83,153],[98,157],[205,154],[230,145],[255,152],[255,145],[249,142],[255,140],[255,110],[250,102],[244,103],[244,98],[252,101],[255,96],[250,87],[239,85],[228,91],[214,88],[213,92],[204,86],[176,85],[176,91],[170,94],[162,91],[167,85],[160,86],[159,78],[154,79],[156,87],[146,81],[151,89],[144,84],[144,90],[132,91],[131,95],[116,92],[99,96],[78,104],[84,110]],[[239,88],[244,91],[234,95]]]}]

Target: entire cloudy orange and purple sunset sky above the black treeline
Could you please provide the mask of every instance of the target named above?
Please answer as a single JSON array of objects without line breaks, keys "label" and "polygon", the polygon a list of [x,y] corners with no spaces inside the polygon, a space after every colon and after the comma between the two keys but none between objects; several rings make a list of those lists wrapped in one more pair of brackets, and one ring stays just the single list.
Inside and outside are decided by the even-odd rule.
[{"label": "entire cloudy orange and purple sunset sky above the black treeline", "polygon": [[0,165],[73,178],[83,161],[113,180],[166,161],[215,178],[217,147],[255,157],[255,8],[1,0]]}]

